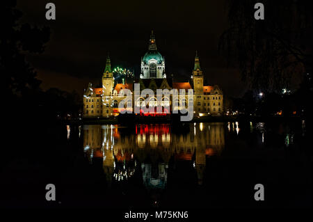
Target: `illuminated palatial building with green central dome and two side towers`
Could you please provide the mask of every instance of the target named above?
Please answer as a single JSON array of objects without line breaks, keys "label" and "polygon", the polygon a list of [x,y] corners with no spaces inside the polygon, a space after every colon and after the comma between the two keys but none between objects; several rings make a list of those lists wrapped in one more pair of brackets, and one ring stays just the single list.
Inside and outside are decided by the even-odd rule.
[{"label": "illuminated palatial building with green central dome and two side towers", "polygon": [[[172,96],[161,95],[162,101],[157,101],[157,95],[146,101],[140,97],[134,101],[134,84],[140,85],[140,90],[150,88],[157,94],[157,89],[177,89],[184,90],[185,97],[178,97],[172,101]],[[182,109],[184,106],[193,106],[194,116],[220,116],[223,114],[223,91],[217,86],[204,86],[204,75],[200,68],[200,58],[195,54],[195,65],[191,78],[184,82],[175,82],[172,77],[166,77],[165,58],[157,51],[157,43],[154,34],[150,35],[148,51],[141,58],[140,79],[135,79],[131,83],[118,84],[115,82],[111,68],[111,60],[106,58],[106,67],[102,75],[102,86],[93,87],[88,85],[83,95],[83,117],[96,118],[118,116],[120,109],[118,104],[125,100],[127,95],[119,95],[120,90],[128,89],[131,91],[132,100],[127,100],[125,109],[134,110],[134,106],[149,106],[158,104],[170,107],[170,110],[162,109],[163,113],[169,114],[174,110]],[[187,97],[188,90],[193,90],[193,101]],[[182,100],[181,100],[182,99]],[[192,103],[192,104],[191,104]],[[129,108],[131,107],[131,108]]]}]

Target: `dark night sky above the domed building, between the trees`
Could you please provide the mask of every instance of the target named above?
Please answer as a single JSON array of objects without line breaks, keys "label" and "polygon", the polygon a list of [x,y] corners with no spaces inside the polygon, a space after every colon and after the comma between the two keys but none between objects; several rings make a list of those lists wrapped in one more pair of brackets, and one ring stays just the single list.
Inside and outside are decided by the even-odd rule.
[{"label": "dark night sky above the domed building, between the trees", "polygon": [[[56,4],[56,20],[45,19],[45,5]],[[45,52],[28,60],[42,88],[77,90],[101,81],[109,52],[113,67],[134,68],[139,74],[151,30],[165,56],[166,74],[186,79],[193,69],[195,50],[207,84],[225,94],[240,96],[246,89],[236,68],[227,68],[218,53],[220,34],[227,28],[222,1],[17,1],[21,22],[49,26]]]}]

